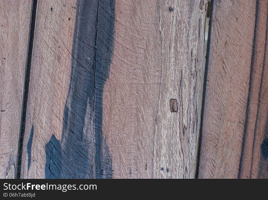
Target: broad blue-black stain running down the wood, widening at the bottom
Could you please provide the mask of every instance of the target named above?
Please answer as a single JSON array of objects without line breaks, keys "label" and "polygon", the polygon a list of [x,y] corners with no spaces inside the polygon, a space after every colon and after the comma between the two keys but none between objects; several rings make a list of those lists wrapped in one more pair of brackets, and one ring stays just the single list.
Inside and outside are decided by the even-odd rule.
[{"label": "broad blue-black stain running down the wood, widening at the bottom", "polygon": [[62,138],[52,136],[46,145],[46,178],[112,178],[102,96],[113,53],[115,1],[79,1],[76,8]]}]

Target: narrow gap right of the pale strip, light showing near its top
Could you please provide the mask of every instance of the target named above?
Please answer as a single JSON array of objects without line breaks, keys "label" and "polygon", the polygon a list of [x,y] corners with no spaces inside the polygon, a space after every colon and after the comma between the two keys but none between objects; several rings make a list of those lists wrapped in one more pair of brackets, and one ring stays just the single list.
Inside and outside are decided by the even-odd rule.
[{"label": "narrow gap right of the pale strip, light showing near its top", "polygon": [[214,3],[214,0],[208,1],[207,15],[206,15],[206,34],[205,34],[206,54],[204,54],[204,68],[205,69],[204,69],[204,76],[203,76],[204,77],[203,95],[202,95],[202,106],[201,106],[201,116],[200,116],[200,126],[199,126],[195,178],[198,178],[198,175],[199,175],[200,151],[201,151],[201,144],[202,144],[203,116],[204,116],[204,106],[205,106],[205,99],[206,99],[207,73],[208,73],[209,56],[210,56],[210,40],[211,40],[211,28],[212,28],[213,3]]}]

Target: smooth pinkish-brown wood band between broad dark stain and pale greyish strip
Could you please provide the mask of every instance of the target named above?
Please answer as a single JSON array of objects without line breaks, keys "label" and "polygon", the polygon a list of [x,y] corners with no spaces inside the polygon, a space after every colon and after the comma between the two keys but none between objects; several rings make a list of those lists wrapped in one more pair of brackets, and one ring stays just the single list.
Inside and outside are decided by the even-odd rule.
[{"label": "smooth pinkish-brown wood band between broad dark stain and pale greyish strip", "polygon": [[103,94],[103,133],[114,178],[153,177],[161,76],[158,6],[156,1],[115,1],[114,53]]}]

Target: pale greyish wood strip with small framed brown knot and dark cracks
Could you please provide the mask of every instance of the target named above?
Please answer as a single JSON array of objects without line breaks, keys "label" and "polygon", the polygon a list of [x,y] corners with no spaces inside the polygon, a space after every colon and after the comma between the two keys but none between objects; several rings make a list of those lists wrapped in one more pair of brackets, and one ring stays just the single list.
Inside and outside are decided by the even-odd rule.
[{"label": "pale greyish wood strip with small framed brown knot and dark cracks", "polygon": [[195,176],[206,6],[207,1],[160,4],[162,73],[154,136],[155,178]]}]

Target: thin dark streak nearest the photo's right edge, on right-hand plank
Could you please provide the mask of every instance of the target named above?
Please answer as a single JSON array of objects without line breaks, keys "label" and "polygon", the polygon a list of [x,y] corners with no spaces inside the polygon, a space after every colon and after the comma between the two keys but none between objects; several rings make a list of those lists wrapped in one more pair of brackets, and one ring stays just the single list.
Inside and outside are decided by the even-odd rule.
[{"label": "thin dark streak nearest the photo's right edge, on right-hand plank", "polygon": [[[267,7],[267,13],[268,13],[268,7]],[[266,55],[267,55],[266,54],[266,50],[267,50],[266,46],[267,46],[267,36],[268,36],[268,14],[267,14],[267,18],[266,18],[265,35],[266,36],[265,36],[265,44],[264,44],[263,69],[262,69],[262,74],[261,74],[261,83],[260,83],[260,88],[259,88],[257,115],[256,115],[256,122],[255,122],[255,127],[254,127],[254,137],[253,137],[252,154],[251,154],[250,178],[251,178],[251,174],[252,174],[253,155],[254,155],[254,149],[255,149],[255,141],[256,141],[256,134],[257,134],[257,127],[258,127],[258,122],[259,122],[261,94],[262,94],[262,91],[263,91],[264,69],[265,69],[265,66],[266,66]]]}]

